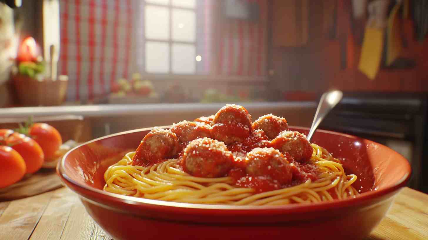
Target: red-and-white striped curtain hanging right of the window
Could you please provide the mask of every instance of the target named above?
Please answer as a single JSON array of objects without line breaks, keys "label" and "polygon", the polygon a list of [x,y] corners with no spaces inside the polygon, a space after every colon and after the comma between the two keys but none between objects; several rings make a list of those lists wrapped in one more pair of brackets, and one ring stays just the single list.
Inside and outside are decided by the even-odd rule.
[{"label": "red-and-white striped curtain hanging right of the window", "polygon": [[[249,4],[258,10],[257,19],[237,19],[225,14],[225,2]],[[268,1],[198,0],[197,74],[264,76],[267,64]]]}]

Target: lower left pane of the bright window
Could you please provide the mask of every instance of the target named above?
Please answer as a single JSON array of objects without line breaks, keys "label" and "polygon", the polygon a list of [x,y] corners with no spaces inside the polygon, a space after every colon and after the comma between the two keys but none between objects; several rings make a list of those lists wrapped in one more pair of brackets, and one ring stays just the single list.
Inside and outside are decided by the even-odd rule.
[{"label": "lower left pane of the bright window", "polygon": [[146,72],[169,71],[169,45],[166,42],[146,42]]}]

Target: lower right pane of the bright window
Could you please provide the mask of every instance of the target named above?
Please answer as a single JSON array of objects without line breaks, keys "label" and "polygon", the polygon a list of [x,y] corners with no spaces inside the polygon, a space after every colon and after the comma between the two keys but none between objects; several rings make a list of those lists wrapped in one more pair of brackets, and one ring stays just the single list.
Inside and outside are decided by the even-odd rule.
[{"label": "lower right pane of the bright window", "polygon": [[193,44],[172,44],[172,72],[193,74],[196,71],[196,54]]}]

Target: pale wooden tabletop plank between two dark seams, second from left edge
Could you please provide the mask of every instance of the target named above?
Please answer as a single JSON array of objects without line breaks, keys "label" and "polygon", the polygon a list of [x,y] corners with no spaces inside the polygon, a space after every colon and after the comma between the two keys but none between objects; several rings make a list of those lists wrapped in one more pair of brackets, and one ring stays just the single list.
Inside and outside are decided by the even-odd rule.
[{"label": "pale wooden tabletop plank between two dark seams, second from left edge", "polygon": [[31,240],[58,240],[65,228],[71,209],[79,205],[79,198],[67,188],[53,191],[51,202],[31,235]]}]

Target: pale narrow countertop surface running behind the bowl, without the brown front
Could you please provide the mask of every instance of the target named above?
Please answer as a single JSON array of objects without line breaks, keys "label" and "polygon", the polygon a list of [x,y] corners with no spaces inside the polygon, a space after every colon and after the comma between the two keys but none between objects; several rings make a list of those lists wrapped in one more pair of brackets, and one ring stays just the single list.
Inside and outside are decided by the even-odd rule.
[{"label": "pale narrow countertop surface running behind the bowl, without the brown front", "polygon": [[[248,111],[261,109],[286,109],[286,108],[316,108],[315,102],[244,102]],[[28,117],[29,115],[80,115],[83,117],[111,117],[129,116],[136,114],[174,114],[192,113],[197,111],[209,111],[215,113],[225,103],[159,103],[159,104],[106,104],[106,105],[77,105],[54,107],[19,107],[0,108],[0,116],[3,117]]]}]

